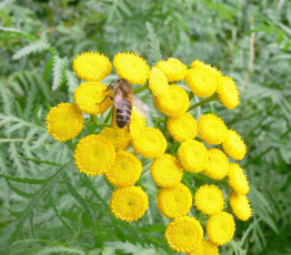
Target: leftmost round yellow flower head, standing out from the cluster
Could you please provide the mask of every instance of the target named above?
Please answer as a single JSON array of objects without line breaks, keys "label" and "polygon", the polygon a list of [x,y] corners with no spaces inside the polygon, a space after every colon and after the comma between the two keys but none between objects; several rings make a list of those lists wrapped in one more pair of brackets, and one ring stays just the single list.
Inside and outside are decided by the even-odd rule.
[{"label": "leftmost round yellow flower head, standing out from the cluster", "polygon": [[60,103],[50,109],[46,123],[48,132],[59,142],[64,142],[81,132],[83,115],[73,103]]}]

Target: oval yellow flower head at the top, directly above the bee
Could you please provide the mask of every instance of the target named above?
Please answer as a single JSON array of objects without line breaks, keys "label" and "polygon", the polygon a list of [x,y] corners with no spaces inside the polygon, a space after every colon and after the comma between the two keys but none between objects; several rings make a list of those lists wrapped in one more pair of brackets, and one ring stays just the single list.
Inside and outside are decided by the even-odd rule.
[{"label": "oval yellow flower head at the top, directly above the bee", "polygon": [[146,60],[133,53],[121,53],[114,55],[113,65],[122,79],[132,84],[143,84],[148,78],[150,68]]}]

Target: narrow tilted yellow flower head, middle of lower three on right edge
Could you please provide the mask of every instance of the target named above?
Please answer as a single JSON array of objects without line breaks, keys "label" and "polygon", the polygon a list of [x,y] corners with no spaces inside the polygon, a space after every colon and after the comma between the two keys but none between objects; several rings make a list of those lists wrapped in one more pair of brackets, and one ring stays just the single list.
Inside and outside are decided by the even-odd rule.
[{"label": "narrow tilted yellow flower head, middle of lower three on right edge", "polygon": [[239,164],[231,163],[229,166],[229,185],[235,193],[245,195],[250,191],[250,185],[247,175]]}]

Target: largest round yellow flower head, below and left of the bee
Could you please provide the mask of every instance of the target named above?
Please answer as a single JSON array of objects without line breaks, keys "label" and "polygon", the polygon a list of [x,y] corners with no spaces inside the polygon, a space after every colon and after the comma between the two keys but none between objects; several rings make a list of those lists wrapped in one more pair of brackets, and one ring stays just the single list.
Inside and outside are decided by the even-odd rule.
[{"label": "largest round yellow flower head, below and left of the bee", "polygon": [[80,140],[74,149],[74,163],[80,172],[91,175],[106,173],[116,160],[116,150],[101,134],[90,134]]}]

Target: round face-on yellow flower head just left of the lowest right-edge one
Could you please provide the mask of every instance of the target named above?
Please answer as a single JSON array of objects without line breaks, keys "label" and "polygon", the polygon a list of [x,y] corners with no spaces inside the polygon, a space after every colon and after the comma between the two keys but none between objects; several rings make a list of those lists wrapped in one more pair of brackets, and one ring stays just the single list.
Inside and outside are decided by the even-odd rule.
[{"label": "round face-on yellow flower head just left of the lowest right-edge one", "polygon": [[209,215],[221,212],[224,205],[222,191],[213,184],[200,186],[195,192],[194,201],[197,208]]}]

